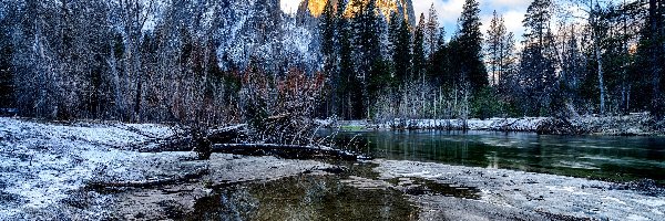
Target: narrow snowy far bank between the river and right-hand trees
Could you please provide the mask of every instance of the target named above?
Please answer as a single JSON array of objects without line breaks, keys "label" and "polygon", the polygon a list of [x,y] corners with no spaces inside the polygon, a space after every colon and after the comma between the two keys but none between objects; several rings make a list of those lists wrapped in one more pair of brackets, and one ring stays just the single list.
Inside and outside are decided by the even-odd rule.
[{"label": "narrow snowy far bank between the river and right-hand trees", "polygon": [[625,116],[579,116],[562,122],[551,117],[488,118],[488,119],[393,119],[375,123],[369,120],[318,120],[324,127],[342,129],[450,129],[526,131],[543,134],[593,134],[593,135],[663,135],[653,118],[646,113]]}]

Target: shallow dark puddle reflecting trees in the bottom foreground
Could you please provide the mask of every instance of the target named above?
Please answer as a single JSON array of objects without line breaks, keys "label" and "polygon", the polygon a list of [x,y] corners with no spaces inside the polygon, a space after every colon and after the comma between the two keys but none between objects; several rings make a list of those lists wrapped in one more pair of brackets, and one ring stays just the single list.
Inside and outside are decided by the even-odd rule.
[{"label": "shallow dark puddle reflecting trees in the bottom foreground", "polygon": [[191,220],[409,220],[417,214],[395,190],[357,189],[337,176],[301,176],[218,190],[198,200]]}]

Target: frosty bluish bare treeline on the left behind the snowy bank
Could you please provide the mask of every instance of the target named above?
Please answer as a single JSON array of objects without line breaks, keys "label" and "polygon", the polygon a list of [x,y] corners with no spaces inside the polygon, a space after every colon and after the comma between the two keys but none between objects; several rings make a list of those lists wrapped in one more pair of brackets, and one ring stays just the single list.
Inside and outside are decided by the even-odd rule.
[{"label": "frosty bluish bare treeline on the left behind the snowy bank", "polygon": [[[2,0],[0,6],[2,105],[21,116],[238,122],[246,103],[241,101],[243,77],[253,66],[288,71],[278,56],[267,63],[249,53],[217,51],[231,35],[219,33],[229,27],[225,17],[254,10],[267,18],[280,12],[278,1],[249,9],[190,0]],[[247,27],[287,25],[282,14],[274,18],[247,21]],[[252,38],[255,45],[277,50],[286,36],[272,29]],[[272,78],[278,77],[286,75]]]}]

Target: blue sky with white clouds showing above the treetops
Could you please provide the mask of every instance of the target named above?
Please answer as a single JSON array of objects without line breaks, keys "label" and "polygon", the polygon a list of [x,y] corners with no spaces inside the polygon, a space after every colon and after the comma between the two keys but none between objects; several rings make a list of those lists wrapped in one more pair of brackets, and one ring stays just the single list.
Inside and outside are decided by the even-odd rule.
[{"label": "blue sky with white clouds showing above the treetops", "polygon": [[[282,0],[282,8],[286,12],[294,12],[301,0]],[[430,6],[433,3],[439,15],[439,22],[446,27],[446,32],[450,36],[457,29],[457,19],[462,12],[462,6],[464,0],[411,0],[413,3],[413,10],[416,11],[416,18],[420,17],[420,13],[424,13],[427,17]],[[505,27],[508,31],[515,34],[516,39],[520,39],[523,31],[522,20],[526,8],[531,3],[531,0],[479,0],[480,3],[480,15],[483,24],[482,31],[485,33],[485,27],[492,19],[492,12],[497,10],[499,14],[502,14],[505,20]]]}]

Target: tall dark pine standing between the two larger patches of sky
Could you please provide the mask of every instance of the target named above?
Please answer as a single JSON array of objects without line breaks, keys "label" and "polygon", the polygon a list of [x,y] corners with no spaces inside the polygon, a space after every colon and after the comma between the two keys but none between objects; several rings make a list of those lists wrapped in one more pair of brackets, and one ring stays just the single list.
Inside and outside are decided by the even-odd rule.
[{"label": "tall dark pine standing between the two larger patches of sky", "polygon": [[460,63],[456,71],[463,74],[473,91],[489,84],[484,62],[482,62],[482,33],[480,32],[480,9],[475,0],[466,0],[459,19],[460,32],[456,41],[459,44]]}]

